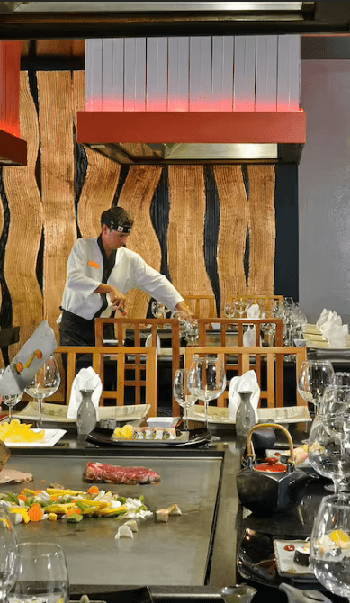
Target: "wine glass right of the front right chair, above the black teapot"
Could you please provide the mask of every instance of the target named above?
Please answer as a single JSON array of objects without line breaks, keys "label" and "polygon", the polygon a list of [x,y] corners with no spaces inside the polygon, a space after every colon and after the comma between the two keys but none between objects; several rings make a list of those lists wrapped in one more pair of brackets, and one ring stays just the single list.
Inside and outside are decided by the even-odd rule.
[{"label": "wine glass right of the front right chair, above the black teapot", "polygon": [[328,385],[334,381],[334,369],[329,360],[306,360],[298,376],[298,392],[301,398],[314,405],[314,414]]}]

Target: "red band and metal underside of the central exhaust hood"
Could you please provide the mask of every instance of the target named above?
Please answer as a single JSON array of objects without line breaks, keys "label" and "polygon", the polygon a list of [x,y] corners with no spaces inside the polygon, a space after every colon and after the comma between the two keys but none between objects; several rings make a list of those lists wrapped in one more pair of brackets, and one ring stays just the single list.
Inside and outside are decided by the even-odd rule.
[{"label": "red band and metal underside of the central exhaust hood", "polygon": [[[78,142],[120,164],[276,164],[299,163],[306,116],[304,112],[78,112],[77,125]],[[157,142],[166,137],[173,142]]]}]

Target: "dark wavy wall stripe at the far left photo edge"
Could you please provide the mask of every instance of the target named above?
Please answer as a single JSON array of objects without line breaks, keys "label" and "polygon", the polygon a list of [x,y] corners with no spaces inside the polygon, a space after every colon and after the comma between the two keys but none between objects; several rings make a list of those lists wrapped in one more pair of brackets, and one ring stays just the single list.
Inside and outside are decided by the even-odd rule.
[{"label": "dark wavy wall stripe at the far left photo edge", "polygon": [[5,278],[4,278],[4,254],[7,245],[8,231],[10,228],[10,208],[7,201],[6,193],[4,192],[4,179],[3,179],[3,168],[0,166],[0,197],[3,203],[4,211],[4,228],[0,237],[0,284],[2,293],[1,312],[0,312],[0,325],[2,329],[12,327],[13,324],[13,305],[11,301],[10,292],[8,290]]}]

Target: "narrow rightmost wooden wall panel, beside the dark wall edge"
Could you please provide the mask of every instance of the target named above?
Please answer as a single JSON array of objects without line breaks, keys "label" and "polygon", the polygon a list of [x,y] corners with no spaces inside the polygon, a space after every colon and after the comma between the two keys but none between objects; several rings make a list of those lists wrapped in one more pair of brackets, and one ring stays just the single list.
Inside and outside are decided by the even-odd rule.
[{"label": "narrow rightmost wooden wall panel, beside the dark wall edge", "polygon": [[274,166],[248,166],[249,278],[247,293],[274,294]]}]

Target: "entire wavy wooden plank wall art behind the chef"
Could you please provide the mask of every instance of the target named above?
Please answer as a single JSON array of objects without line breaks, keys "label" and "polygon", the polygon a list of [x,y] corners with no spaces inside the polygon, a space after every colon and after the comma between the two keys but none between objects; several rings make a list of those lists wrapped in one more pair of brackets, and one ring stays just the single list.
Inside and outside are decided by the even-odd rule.
[{"label": "entire wavy wooden plank wall art behind the chef", "polygon": [[[274,293],[274,166],[248,166],[245,177],[242,166],[121,168],[77,145],[83,107],[84,72],[22,72],[28,166],[5,167],[0,182],[1,326],[21,326],[10,357],[43,318],[58,336],[67,257],[77,237],[99,233],[112,204],[134,216],[128,247],[180,293],[213,293],[221,315],[229,296]],[[148,303],[128,293],[130,318],[145,317]]]}]

